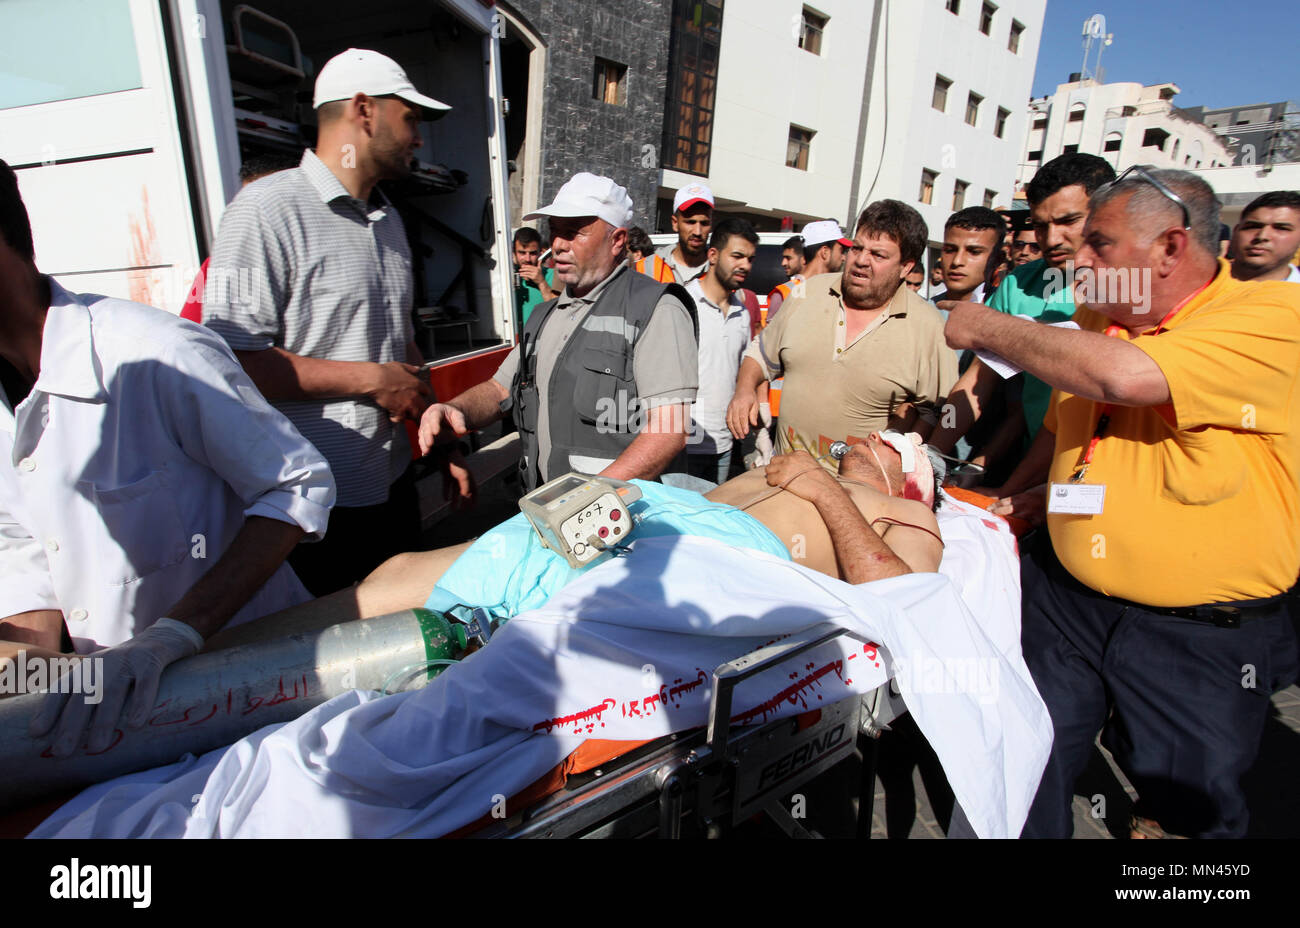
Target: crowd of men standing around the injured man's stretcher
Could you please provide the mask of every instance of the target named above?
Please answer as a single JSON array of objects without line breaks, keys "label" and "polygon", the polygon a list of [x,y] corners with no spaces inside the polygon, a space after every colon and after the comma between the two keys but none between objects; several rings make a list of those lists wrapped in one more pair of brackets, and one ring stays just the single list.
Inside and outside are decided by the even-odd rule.
[{"label": "crowd of men standing around the injured man's stretcher", "polygon": [[[571,470],[712,490],[766,465],[810,487],[854,581],[888,576],[862,561],[876,548],[911,569],[885,532],[937,535],[837,530],[832,446],[855,447],[858,485],[930,508],[924,442],[983,467],[976,493],[1028,530],[1023,650],[1056,741],[1024,833],[1070,834],[1098,732],[1138,788],[1135,836],[1245,833],[1240,779],[1297,669],[1300,194],[1251,203],[1223,259],[1195,174],[1063,155],[1027,211],[948,218],[930,302],[905,203],[852,234],[809,222],[788,279],[753,294],[758,234],[707,186],[677,191],[655,250],[627,190],[580,173],[514,237],[516,346],[434,398],[380,183],[446,105],[363,49],[313,105],[316,148],[228,208],[202,326],[40,274],[0,165],[0,659],[107,649],[103,703],[52,697],[34,725],[55,754],[142,724],[162,669],[218,629],[416,550],[406,421],[467,499],[458,439],[502,420],[524,491]],[[252,294],[213,286],[237,268]]]}]

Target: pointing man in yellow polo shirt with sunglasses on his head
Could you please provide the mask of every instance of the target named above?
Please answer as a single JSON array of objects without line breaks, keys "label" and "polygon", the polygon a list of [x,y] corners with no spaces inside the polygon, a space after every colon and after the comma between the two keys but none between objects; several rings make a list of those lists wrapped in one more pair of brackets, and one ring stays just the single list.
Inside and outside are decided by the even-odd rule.
[{"label": "pointing man in yellow polo shirt with sunglasses on his head", "polygon": [[1300,289],[1232,279],[1193,174],[1134,168],[1089,208],[1079,330],[968,303],[946,326],[1056,389],[1036,441],[1050,539],[1022,559],[1056,740],[1024,834],[1070,834],[1105,727],[1140,795],[1135,837],[1243,836],[1240,777],[1296,673]]}]

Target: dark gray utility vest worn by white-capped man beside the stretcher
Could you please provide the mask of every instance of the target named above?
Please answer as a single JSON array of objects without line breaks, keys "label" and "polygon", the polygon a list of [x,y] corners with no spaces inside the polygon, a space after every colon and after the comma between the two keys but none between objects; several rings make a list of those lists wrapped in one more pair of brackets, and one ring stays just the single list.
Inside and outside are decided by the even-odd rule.
[{"label": "dark gray utility vest worn by white-capped man beside the stretcher", "polygon": [[[624,268],[604,286],[573,338],[560,350],[545,390],[537,383],[537,337],[559,300],[547,300],[533,309],[519,341],[519,369],[510,389],[515,428],[524,445],[519,472],[525,491],[541,486],[543,469],[550,480],[572,470],[569,455],[612,460],[632,445],[645,420],[632,359],[637,339],[664,294],[672,294],[686,307],[698,339],[696,302],[682,286],[659,283]],[[538,460],[537,437],[542,396],[549,403],[551,430],[545,468]]]}]

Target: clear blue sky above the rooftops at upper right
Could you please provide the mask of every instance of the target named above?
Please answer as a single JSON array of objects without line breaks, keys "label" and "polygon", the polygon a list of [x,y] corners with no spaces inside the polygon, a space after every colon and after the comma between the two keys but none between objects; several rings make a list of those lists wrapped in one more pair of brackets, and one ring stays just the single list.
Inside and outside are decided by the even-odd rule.
[{"label": "clear blue sky above the rooftops at upper right", "polygon": [[[1048,0],[1034,96],[1052,94],[1083,64],[1083,22],[1106,17],[1108,83],[1173,82],[1179,107],[1300,100],[1297,0]],[[1096,47],[1088,66],[1096,61]]]}]

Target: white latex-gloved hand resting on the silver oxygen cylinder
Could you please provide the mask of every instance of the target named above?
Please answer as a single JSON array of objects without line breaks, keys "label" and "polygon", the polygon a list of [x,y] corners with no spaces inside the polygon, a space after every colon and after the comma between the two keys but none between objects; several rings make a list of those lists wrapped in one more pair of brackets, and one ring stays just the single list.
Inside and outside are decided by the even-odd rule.
[{"label": "white latex-gloved hand resting on the silver oxygen cylinder", "polygon": [[[202,647],[203,636],[194,626],[174,619],[159,619],[130,641],[95,651],[82,659],[103,662],[100,672],[95,675],[99,678],[98,704],[87,701],[87,695],[94,698],[96,694],[87,694],[84,686],[81,688],[81,693],[69,693],[70,686],[55,684],[40,704],[40,711],[32,717],[29,733],[39,738],[53,728],[51,753],[66,758],[81,745],[82,733],[90,721],[86,750],[92,754],[103,751],[112,743],[118,720],[131,728],[140,728],[148,721],[157,701],[164,668],[198,654]],[[72,671],[64,680],[75,673],[78,671]],[[82,680],[84,681],[86,676],[82,676]],[[56,721],[57,728],[55,728]]]}]

